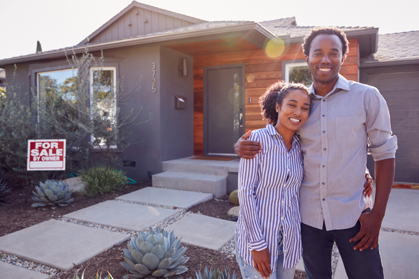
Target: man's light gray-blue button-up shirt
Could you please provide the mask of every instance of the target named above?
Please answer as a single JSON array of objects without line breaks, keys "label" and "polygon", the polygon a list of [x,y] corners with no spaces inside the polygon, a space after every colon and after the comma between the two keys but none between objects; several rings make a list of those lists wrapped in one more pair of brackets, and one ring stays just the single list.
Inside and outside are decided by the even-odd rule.
[{"label": "man's light gray-blue button-up shirt", "polygon": [[339,75],[325,97],[310,87],[311,112],[297,131],[304,157],[300,188],[302,223],[321,229],[355,226],[367,198],[367,152],[374,160],[395,158],[387,103],[378,90]]}]

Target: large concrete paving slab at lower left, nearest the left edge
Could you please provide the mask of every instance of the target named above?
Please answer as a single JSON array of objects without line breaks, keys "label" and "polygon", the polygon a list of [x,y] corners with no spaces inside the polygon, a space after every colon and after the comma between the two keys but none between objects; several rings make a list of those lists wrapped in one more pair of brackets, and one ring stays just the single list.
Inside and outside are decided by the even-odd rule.
[{"label": "large concrete paving slab at lower left, nearest the left edge", "polygon": [[[131,236],[57,220],[0,237],[0,251],[69,271]],[[15,278],[26,278],[15,277]]]}]

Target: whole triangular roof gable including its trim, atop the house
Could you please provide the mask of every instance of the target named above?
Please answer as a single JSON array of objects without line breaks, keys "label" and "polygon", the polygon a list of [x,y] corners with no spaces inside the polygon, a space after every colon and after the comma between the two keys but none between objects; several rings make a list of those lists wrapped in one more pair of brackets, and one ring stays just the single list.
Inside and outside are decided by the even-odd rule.
[{"label": "whole triangular roof gable including its trim, atop the house", "polygon": [[104,43],[205,22],[133,1],[78,45]]}]

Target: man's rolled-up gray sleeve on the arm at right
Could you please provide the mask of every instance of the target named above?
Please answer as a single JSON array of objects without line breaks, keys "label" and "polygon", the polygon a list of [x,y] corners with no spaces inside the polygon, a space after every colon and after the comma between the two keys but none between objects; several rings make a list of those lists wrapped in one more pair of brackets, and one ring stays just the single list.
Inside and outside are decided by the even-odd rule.
[{"label": "man's rolled-up gray sleeve on the arm at right", "polygon": [[392,135],[390,112],[378,89],[371,87],[367,94],[367,119],[365,127],[368,135],[368,153],[374,161],[395,158],[397,137]]}]

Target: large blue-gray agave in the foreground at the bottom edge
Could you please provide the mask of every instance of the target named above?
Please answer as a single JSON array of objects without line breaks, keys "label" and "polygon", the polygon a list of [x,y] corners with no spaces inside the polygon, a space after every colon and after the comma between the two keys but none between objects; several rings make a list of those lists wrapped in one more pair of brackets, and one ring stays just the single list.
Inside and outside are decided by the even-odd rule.
[{"label": "large blue-gray agave in the foreground at the bottom edge", "polygon": [[180,279],[179,274],[188,269],[183,266],[189,257],[184,257],[186,247],[179,248],[181,239],[173,232],[156,229],[140,232],[137,238],[131,237],[128,249],[124,249],[124,266],[131,274],[124,279]]}]

